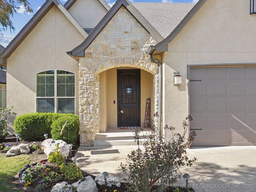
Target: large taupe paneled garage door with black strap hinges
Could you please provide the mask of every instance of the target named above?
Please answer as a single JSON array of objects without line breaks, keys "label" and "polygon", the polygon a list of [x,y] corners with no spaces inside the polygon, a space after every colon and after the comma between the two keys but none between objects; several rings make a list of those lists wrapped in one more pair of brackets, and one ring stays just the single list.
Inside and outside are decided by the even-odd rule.
[{"label": "large taupe paneled garage door with black strap hinges", "polygon": [[189,71],[190,129],[197,133],[193,145],[255,145],[256,67]]}]

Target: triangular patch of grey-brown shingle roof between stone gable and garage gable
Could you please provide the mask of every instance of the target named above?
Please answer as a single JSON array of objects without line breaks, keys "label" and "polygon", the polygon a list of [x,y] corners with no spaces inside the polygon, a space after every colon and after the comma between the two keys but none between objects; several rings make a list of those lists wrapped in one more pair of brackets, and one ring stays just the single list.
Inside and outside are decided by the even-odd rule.
[{"label": "triangular patch of grey-brown shingle roof between stone gable and garage gable", "polygon": [[134,2],[132,5],[148,20],[163,38],[166,38],[195,4]]}]

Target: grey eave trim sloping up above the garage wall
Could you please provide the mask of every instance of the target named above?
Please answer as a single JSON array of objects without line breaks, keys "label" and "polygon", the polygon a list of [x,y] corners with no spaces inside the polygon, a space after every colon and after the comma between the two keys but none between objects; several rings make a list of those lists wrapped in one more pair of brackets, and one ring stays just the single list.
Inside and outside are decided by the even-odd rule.
[{"label": "grey eave trim sloping up above the garage wall", "polygon": [[153,54],[162,54],[163,52],[168,51],[168,44],[179,34],[179,32],[184,28],[184,26],[186,26],[186,24],[196,14],[196,12],[198,12],[205,2],[206,0],[199,0],[180,22],[180,24],[178,24],[178,26],[176,26],[176,28],[171,32],[171,34],[155,46],[150,46],[148,52],[153,52]]}]

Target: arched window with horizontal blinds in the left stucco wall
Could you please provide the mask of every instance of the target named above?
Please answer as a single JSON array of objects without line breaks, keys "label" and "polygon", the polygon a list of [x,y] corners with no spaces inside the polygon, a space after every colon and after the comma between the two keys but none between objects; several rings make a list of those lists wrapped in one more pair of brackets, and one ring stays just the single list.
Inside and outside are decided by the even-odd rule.
[{"label": "arched window with horizontal blinds in the left stucco wall", "polygon": [[75,74],[48,70],[36,74],[37,112],[75,113]]}]

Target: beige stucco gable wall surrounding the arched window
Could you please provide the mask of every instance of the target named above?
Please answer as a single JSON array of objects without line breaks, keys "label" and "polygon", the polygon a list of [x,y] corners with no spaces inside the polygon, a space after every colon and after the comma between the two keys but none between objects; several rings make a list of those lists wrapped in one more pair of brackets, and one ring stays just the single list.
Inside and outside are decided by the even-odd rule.
[{"label": "beige stucco gable wall surrounding the arched window", "polygon": [[[51,69],[74,72],[78,96],[78,62],[66,51],[83,40],[64,14],[56,6],[52,7],[7,60],[7,106],[13,106],[18,115],[36,112],[36,73]],[[8,120],[11,129],[14,118]]]}]

